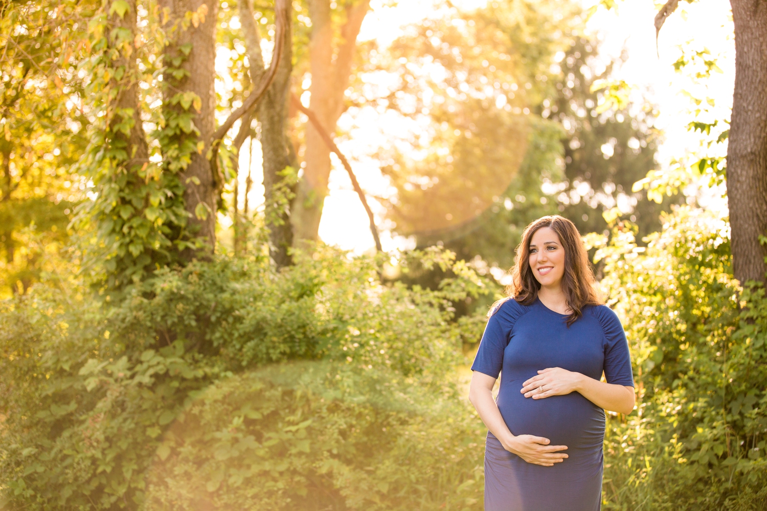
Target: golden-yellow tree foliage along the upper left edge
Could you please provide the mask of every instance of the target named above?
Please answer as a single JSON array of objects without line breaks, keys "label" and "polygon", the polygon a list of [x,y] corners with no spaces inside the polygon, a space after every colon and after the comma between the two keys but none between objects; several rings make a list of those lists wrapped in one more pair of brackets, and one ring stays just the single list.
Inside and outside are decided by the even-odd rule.
[{"label": "golden-yellow tree foliage along the upper left edge", "polygon": [[[88,9],[83,2],[83,7]],[[4,4],[0,15],[0,296],[41,277],[35,241],[61,244],[87,182],[74,172],[91,120],[74,73],[80,13],[60,2]],[[34,232],[34,236],[31,236]]]}]

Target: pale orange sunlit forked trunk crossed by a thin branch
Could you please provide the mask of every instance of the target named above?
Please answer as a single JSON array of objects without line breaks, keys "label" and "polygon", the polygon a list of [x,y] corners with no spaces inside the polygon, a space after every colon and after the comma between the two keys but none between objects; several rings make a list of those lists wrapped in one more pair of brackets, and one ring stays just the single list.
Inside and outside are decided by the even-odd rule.
[{"label": "pale orange sunlit forked trunk crossed by a thin branch", "polygon": [[[334,133],[343,113],[344,90],[349,84],[351,64],[357,47],[357,34],[367,14],[369,0],[347,7],[347,21],[341,28],[342,42],[334,52],[330,0],[310,0],[311,64],[310,108],[321,126]],[[335,53],[335,55],[334,55]],[[334,59],[335,57],[335,59]],[[324,198],[328,195],[331,173],[331,151],[313,126],[306,128],[306,168],[293,203],[291,221],[295,241],[316,241]]]}]

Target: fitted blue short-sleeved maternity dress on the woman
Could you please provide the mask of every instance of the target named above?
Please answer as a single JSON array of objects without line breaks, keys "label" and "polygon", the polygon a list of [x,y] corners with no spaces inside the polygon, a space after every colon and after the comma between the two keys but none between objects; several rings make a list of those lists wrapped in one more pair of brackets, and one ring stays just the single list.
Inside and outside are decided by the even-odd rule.
[{"label": "fitted blue short-sleeved maternity dress on the woman", "polygon": [[621,321],[607,306],[587,306],[569,327],[565,314],[540,300],[507,300],[488,320],[472,371],[497,378],[498,408],[512,434],[566,445],[553,467],[528,464],[488,432],[485,448],[486,511],[598,511],[601,507],[604,410],[578,392],[525,398],[522,382],[538,370],[561,367],[607,383],[634,385]]}]

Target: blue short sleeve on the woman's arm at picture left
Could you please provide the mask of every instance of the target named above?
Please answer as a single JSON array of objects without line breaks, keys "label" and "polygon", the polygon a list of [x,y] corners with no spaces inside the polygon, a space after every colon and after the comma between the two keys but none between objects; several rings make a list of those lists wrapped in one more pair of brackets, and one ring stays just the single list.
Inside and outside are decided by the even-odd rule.
[{"label": "blue short sleeve on the woman's arm at picture left", "polygon": [[514,323],[523,313],[522,306],[511,299],[502,303],[490,316],[474,357],[472,371],[498,378],[503,368],[503,352],[509,345]]}]

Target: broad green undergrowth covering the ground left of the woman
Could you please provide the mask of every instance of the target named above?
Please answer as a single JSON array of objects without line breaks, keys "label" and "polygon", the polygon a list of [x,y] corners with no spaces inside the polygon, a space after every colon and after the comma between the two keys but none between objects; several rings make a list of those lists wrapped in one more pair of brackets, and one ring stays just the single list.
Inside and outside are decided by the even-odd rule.
[{"label": "broad green undergrowth covering the ground left of the woman", "polygon": [[[374,260],[318,248],[279,274],[263,257],[160,270],[114,303],[48,287],[6,302],[2,493],[35,509],[203,497],[291,509],[330,478],[351,509],[478,506],[481,424],[450,374],[482,319],[456,321],[450,303],[492,288],[442,252],[423,260],[459,277],[437,291],[384,287]],[[312,362],[281,365],[301,359]],[[397,459],[416,451],[403,471]],[[435,467],[443,453],[455,467]],[[203,496],[189,470],[212,477]]]}]

